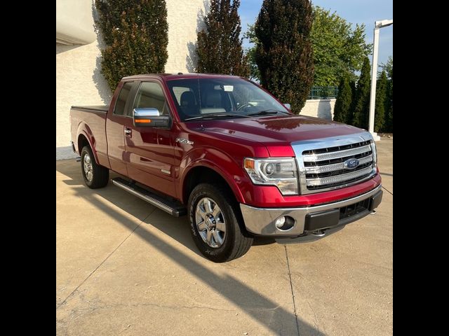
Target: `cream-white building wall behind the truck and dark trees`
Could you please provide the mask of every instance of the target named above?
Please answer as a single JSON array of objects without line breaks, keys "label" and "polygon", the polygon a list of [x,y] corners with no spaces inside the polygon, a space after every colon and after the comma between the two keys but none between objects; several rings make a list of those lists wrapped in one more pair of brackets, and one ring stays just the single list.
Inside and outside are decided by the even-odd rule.
[{"label": "cream-white building wall behind the truck and dark trees", "polygon": [[[166,72],[193,72],[194,43],[206,0],[166,0],[168,61]],[[67,7],[69,8],[69,7]],[[93,15],[93,13],[90,13]],[[94,28],[92,27],[94,31]],[[88,45],[56,43],[56,159],[74,158],[70,147],[72,105],[109,104],[112,93],[100,73],[101,41]]]}]

